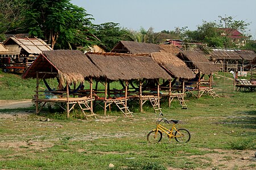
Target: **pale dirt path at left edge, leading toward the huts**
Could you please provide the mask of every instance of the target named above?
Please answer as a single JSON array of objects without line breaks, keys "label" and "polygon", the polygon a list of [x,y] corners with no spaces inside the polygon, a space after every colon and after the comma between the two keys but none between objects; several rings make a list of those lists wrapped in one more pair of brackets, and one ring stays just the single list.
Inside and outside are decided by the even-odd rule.
[{"label": "pale dirt path at left edge, leading toward the huts", "polygon": [[31,106],[31,100],[0,100],[0,109],[28,108]]}]

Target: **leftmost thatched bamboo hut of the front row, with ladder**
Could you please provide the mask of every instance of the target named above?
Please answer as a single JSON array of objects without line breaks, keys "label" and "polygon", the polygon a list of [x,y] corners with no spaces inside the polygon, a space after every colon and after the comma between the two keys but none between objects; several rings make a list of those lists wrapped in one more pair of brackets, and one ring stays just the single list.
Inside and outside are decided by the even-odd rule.
[{"label": "leftmost thatched bamboo hut of the front row, with ladder", "polygon": [[[92,101],[94,100],[92,93],[92,78],[104,76],[101,70],[97,69],[95,65],[79,50],[52,50],[43,51],[38,58],[32,63],[26,72],[22,75],[23,79],[35,78],[36,79],[36,113],[39,113],[42,107],[47,102],[53,103],[66,103],[67,117],[69,117],[69,112],[73,109],[76,104],[86,105],[87,108],[82,108],[82,112],[85,114],[84,110],[90,110],[91,114],[87,116],[95,116],[92,108]],[[59,89],[57,91],[52,91],[48,89],[46,91],[39,90],[39,84],[45,79],[57,78],[59,80]],[[85,78],[89,79],[90,82],[90,93],[89,96],[85,97],[70,97],[71,91],[69,90],[70,84],[84,83]],[[66,85],[66,88],[62,88]],[[47,84],[46,84],[47,86]],[[74,90],[75,91],[75,90]],[[74,92],[73,91],[73,92]],[[47,92],[47,94],[46,94]],[[54,95],[58,97],[48,97],[46,95]],[[72,94],[75,95],[75,94]],[[44,98],[43,98],[44,97]],[[42,107],[39,109],[38,103],[43,102]],[[90,107],[89,107],[90,104]],[[72,107],[69,109],[69,105]]]}]

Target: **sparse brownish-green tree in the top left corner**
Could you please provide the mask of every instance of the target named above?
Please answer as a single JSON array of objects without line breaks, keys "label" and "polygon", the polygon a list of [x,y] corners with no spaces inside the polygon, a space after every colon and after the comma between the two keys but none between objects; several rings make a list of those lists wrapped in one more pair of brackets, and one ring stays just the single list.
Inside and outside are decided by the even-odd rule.
[{"label": "sparse brownish-green tree in the top left corner", "polygon": [[27,7],[22,0],[0,0],[0,41],[5,40],[5,33],[19,32],[25,27],[22,22]]}]

